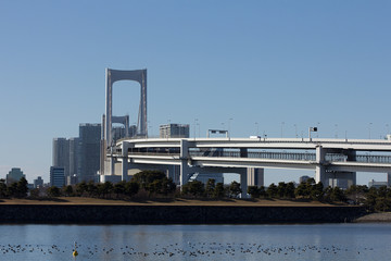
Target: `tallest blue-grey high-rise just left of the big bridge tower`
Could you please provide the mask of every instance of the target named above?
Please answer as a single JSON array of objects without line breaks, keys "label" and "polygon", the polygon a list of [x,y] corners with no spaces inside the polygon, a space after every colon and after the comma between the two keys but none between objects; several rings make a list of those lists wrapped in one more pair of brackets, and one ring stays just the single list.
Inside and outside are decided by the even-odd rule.
[{"label": "tallest blue-grey high-rise just left of the big bridge tower", "polygon": [[85,123],[79,125],[79,164],[78,182],[98,181],[100,169],[101,124]]}]

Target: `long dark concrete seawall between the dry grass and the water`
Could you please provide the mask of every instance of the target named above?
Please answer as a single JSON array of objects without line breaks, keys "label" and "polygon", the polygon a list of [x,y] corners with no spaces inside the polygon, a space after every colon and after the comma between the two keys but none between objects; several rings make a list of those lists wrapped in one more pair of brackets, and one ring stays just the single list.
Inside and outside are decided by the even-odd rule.
[{"label": "long dark concrete seawall between the dry grass and the water", "polygon": [[2,204],[0,223],[38,224],[266,224],[341,223],[361,207],[59,206]]}]

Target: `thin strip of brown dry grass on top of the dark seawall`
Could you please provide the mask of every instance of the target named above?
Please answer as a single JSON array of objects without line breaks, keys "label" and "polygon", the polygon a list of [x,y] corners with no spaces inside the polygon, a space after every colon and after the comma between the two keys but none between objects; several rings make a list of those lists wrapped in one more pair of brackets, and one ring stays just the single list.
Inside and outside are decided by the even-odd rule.
[{"label": "thin strip of brown dry grass on top of the dark seawall", "polygon": [[54,199],[1,199],[0,204],[118,204],[118,206],[238,206],[238,207],[330,207],[333,204],[317,201],[277,200],[277,199],[224,199],[224,200],[200,200],[200,199],[137,199],[131,201],[60,197]]}]

